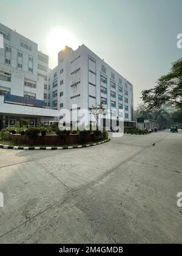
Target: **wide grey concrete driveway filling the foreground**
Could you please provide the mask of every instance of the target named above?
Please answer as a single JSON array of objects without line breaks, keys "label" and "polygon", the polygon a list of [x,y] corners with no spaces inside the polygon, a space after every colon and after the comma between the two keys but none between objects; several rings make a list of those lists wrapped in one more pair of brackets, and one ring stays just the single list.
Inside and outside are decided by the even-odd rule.
[{"label": "wide grey concrete driveway filling the foreground", "polygon": [[169,131],[0,149],[0,243],[182,243],[181,155],[182,132]]}]

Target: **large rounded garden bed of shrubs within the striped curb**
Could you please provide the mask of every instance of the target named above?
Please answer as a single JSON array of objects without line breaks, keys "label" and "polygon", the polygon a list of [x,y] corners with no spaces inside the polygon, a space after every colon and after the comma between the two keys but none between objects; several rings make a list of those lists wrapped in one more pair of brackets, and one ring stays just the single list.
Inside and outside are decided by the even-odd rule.
[{"label": "large rounded garden bed of shrubs within the striped curb", "polygon": [[[7,127],[0,131],[1,148],[67,148],[79,145],[103,143],[108,139],[107,132],[99,130],[59,130],[58,126],[49,127]],[[92,145],[92,146],[93,146]],[[6,147],[7,146],[7,147]]]}]

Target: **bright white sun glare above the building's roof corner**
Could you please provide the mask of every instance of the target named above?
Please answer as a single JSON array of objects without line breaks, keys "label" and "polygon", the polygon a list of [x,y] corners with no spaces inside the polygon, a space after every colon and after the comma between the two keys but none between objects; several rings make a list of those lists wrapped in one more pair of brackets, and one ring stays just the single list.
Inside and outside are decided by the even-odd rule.
[{"label": "bright white sun glare above the building's roof corner", "polygon": [[55,29],[47,36],[46,46],[50,59],[57,59],[58,52],[65,48],[71,47],[73,50],[78,48],[75,37],[66,29]]}]

